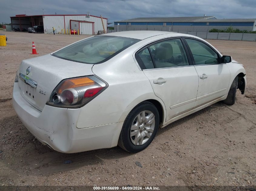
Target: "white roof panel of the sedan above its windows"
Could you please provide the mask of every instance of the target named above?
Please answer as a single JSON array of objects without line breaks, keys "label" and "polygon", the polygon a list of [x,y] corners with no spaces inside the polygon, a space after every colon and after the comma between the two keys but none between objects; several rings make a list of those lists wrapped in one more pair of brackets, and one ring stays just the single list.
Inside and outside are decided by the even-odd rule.
[{"label": "white roof panel of the sedan above its windows", "polygon": [[116,36],[116,37],[127,37],[127,38],[135,38],[139,40],[143,40],[149,37],[154,37],[157,35],[162,34],[170,34],[171,36],[177,36],[177,34],[180,34],[181,36],[184,36],[182,33],[174,33],[174,32],[166,32],[166,31],[153,31],[153,30],[132,30],[132,31],[122,31],[122,32],[114,32],[114,33],[107,33],[107,34],[101,34],[106,36]]}]

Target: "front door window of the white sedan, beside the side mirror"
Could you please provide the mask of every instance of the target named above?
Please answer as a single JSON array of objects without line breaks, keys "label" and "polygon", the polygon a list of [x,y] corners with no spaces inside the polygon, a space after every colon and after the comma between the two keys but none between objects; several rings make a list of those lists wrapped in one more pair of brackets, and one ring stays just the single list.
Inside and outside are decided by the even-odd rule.
[{"label": "front door window of the white sedan, beside the side mirror", "polygon": [[198,40],[186,39],[195,65],[218,64],[218,54],[208,45]]}]

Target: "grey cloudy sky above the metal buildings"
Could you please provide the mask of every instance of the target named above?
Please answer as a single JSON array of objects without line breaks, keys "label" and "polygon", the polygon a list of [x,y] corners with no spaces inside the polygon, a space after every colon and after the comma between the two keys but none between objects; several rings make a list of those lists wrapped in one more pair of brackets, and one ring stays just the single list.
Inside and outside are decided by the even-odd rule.
[{"label": "grey cloudy sky above the metal buildings", "polygon": [[119,21],[138,17],[256,18],[255,0],[0,0],[0,22],[16,14],[86,14]]}]

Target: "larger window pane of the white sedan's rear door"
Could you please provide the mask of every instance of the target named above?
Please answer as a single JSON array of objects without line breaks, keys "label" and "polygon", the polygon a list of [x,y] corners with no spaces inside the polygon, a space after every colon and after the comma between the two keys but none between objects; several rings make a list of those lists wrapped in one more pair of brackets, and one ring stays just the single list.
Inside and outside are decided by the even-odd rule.
[{"label": "larger window pane of the white sedan's rear door", "polygon": [[188,58],[180,39],[165,40],[149,46],[156,68],[187,66]]}]

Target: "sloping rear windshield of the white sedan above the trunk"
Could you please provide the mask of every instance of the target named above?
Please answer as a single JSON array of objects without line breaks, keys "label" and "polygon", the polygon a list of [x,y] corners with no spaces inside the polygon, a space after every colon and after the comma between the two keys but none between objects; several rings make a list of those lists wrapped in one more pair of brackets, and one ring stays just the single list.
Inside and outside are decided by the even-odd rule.
[{"label": "sloping rear windshield of the white sedan above the trunk", "polygon": [[133,38],[99,35],[71,44],[52,56],[74,62],[99,64],[139,41]]}]

